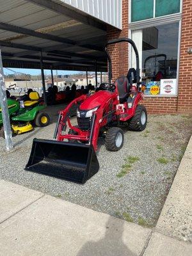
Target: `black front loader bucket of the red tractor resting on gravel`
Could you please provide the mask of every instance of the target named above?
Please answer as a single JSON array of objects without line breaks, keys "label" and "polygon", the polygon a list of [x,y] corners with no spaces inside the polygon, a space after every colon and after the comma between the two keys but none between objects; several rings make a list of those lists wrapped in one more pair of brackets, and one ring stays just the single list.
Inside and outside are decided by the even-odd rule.
[{"label": "black front loader bucket of the red tractor resting on gravel", "polygon": [[34,139],[25,170],[84,183],[99,171],[99,162],[92,145]]}]

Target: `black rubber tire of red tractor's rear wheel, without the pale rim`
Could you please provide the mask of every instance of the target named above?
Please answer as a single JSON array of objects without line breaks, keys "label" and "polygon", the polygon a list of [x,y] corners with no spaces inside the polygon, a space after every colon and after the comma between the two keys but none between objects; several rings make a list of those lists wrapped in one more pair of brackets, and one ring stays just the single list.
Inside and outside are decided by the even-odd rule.
[{"label": "black rubber tire of red tractor's rear wheel, without the pale rim", "polygon": [[138,105],[136,107],[136,111],[135,111],[134,116],[132,116],[131,120],[128,123],[128,127],[129,127],[130,130],[132,130],[132,131],[143,131],[145,129],[147,122],[146,122],[145,125],[141,125],[141,123],[140,123],[140,115],[141,115],[142,111],[145,111],[146,118],[147,118],[147,109],[145,108],[145,106]]}]

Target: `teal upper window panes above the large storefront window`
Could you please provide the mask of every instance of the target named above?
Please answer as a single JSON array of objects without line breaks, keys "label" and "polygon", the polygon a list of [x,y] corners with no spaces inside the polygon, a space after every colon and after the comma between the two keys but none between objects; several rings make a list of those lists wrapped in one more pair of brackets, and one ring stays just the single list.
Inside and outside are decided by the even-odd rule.
[{"label": "teal upper window panes above the large storefront window", "polygon": [[131,0],[131,22],[179,12],[180,0]]}]

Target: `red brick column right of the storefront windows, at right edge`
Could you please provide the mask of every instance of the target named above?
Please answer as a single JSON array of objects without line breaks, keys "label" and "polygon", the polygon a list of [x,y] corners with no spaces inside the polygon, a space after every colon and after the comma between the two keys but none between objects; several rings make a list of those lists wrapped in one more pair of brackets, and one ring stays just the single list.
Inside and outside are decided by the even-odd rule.
[{"label": "red brick column right of the storefront windows, at right edge", "polygon": [[192,113],[192,54],[187,52],[192,48],[192,0],[183,0],[182,4],[177,111]]}]

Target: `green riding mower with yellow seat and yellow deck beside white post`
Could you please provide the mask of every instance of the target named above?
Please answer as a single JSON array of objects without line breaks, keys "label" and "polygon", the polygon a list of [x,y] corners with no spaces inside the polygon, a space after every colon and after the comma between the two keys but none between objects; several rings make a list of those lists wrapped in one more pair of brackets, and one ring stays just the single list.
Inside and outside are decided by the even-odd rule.
[{"label": "green riding mower with yellow seat and yellow deck beside white post", "polygon": [[[42,113],[44,105],[40,104],[38,92],[31,92],[29,99],[21,104],[17,100],[8,99],[8,113],[12,128],[12,135],[21,134],[33,130],[33,124],[44,127],[50,122],[50,117],[47,113]],[[20,106],[23,105],[23,106]],[[0,136],[4,138],[3,118],[0,106]]]}]

